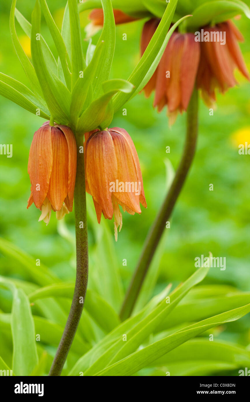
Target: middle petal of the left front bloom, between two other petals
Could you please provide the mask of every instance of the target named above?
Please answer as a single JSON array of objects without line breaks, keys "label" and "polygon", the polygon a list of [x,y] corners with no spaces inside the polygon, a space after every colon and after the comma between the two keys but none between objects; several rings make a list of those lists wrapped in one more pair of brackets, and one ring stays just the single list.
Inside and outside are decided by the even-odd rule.
[{"label": "middle petal of the left front bloom, between two other petals", "polygon": [[55,211],[60,211],[68,194],[69,150],[63,132],[51,127],[53,166],[49,182],[48,199]]}]

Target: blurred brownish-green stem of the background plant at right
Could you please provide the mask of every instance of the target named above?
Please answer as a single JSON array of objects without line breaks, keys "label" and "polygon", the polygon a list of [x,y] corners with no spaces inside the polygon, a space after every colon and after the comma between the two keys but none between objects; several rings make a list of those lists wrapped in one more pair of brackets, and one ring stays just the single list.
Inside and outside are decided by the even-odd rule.
[{"label": "blurred brownish-green stem of the background plant at right", "polygon": [[154,252],[156,251],[163,231],[165,230],[166,222],[169,221],[177,198],[184,185],[187,173],[189,172],[189,168],[195,154],[197,134],[198,94],[197,90],[195,89],[187,110],[187,134],[183,156],[175,174],[173,183],[169,189],[169,192],[167,193],[167,197],[165,198],[165,201],[163,202],[157,218],[155,219],[144,243],[140,260],[128,287],[128,291],[120,312],[120,318],[122,320],[126,320],[126,318],[128,318],[133,311],[136,299],[142,287],[142,283],[146,277],[146,273],[154,256]]}]

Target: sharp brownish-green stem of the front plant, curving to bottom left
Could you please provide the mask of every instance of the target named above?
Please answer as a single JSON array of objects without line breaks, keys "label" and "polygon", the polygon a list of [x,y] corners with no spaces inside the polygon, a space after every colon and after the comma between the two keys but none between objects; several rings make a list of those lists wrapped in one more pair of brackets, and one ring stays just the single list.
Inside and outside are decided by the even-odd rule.
[{"label": "sharp brownish-green stem of the front plant, curving to bottom left", "polygon": [[77,170],[75,179],[75,236],[76,236],[76,280],[75,291],[69,316],[59,343],[57,353],[53,360],[49,375],[60,375],[63,365],[69,353],[71,343],[75,336],[85,295],[88,279],[88,238],[87,238],[87,211],[86,211],[86,191],[85,191],[85,172],[84,155],[79,152],[79,147],[83,146],[83,136],[76,135],[77,144]]}]

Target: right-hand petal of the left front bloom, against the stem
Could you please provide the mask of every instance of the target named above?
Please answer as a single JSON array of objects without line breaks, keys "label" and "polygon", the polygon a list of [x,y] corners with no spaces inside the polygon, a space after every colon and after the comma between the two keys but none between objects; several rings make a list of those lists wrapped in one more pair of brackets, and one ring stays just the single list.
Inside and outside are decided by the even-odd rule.
[{"label": "right-hand petal of the left front bloom, against the stem", "polygon": [[76,149],[76,142],[75,136],[73,131],[67,126],[56,126],[60,129],[68,144],[69,150],[69,179],[68,179],[68,205],[67,208],[69,211],[73,209],[73,199],[74,199],[74,189],[75,189],[75,174],[76,174],[76,160],[77,160],[77,149]]}]

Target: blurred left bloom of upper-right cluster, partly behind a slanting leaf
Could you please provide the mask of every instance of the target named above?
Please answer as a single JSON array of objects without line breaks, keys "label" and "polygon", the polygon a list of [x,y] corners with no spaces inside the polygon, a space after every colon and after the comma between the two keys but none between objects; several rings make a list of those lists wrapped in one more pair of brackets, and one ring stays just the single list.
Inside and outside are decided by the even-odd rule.
[{"label": "blurred left bloom of upper-right cluster, partly behind a slanting leaf", "polygon": [[[152,18],[144,25],[141,39],[142,54],[158,24],[159,20]],[[195,42],[194,33],[174,32],[157,70],[144,87],[147,97],[155,89],[154,107],[157,107],[159,112],[167,105],[170,123],[175,121],[178,112],[187,110],[195,86],[199,57],[200,47],[199,43]]]}]

